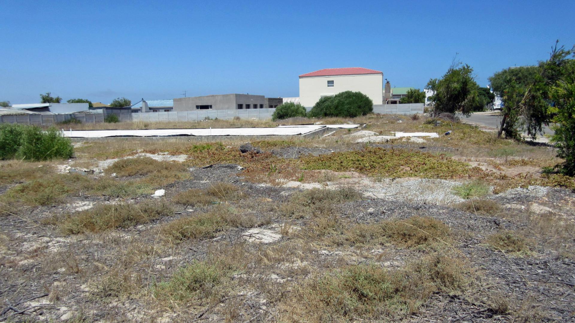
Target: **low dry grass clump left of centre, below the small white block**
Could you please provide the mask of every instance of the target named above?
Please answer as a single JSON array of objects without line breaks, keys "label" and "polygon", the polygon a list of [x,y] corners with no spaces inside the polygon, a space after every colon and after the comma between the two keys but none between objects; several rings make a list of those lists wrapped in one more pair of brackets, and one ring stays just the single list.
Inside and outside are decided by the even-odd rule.
[{"label": "low dry grass clump left of centre, below the small white block", "polygon": [[66,234],[99,232],[116,228],[129,228],[173,214],[173,208],[164,200],[106,204],[97,205],[93,209],[76,214],[67,214],[59,221],[59,226],[62,232]]}]

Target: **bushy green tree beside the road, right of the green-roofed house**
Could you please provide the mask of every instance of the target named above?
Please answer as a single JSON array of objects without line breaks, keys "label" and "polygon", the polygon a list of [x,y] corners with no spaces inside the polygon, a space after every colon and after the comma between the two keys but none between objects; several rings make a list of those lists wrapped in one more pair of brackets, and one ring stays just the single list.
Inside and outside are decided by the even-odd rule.
[{"label": "bushy green tree beside the road, right of the green-roofed house", "polygon": [[478,95],[479,86],[473,77],[473,68],[454,62],[440,79],[430,79],[425,89],[434,91],[436,115],[461,112],[469,116],[471,111],[482,109]]}]

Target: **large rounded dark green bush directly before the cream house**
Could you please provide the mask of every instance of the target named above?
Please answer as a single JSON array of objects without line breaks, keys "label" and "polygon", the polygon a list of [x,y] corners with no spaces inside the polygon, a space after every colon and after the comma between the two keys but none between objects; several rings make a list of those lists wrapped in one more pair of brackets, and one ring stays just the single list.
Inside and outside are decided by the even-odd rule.
[{"label": "large rounded dark green bush directly before the cream house", "polygon": [[373,111],[373,101],[361,92],[344,91],[333,97],[321,98],[309,111],[310,117],[365,116]]}]

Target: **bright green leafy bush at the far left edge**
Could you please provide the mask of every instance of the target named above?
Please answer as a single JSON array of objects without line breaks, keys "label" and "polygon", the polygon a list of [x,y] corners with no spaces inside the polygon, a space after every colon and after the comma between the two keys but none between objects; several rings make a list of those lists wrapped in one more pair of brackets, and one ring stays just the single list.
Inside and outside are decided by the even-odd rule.
[{"label": "bright green leafy bush at the far left edge", "polygon": [[37,126],[0,125],[0,159],[50,160],[72,156],[70,139],[56,129],[43,131]]}]

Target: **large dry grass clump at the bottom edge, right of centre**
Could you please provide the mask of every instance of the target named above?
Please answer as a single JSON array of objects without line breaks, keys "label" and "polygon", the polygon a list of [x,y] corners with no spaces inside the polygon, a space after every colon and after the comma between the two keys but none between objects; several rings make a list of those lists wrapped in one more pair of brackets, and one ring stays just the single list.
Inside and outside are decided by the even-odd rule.
[{"label": "large dry grass clump at the bottom edge, right of centre", "polygon": [[402,320],[416,313],[432,293],[463,290],[468,283],[465,263],[440,253],[393,272],[379,266],[347,266],[297,283],[281,303],[281,321]]}]

